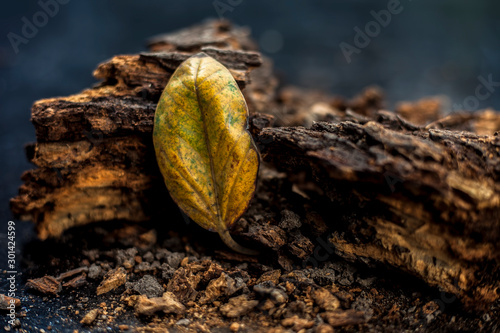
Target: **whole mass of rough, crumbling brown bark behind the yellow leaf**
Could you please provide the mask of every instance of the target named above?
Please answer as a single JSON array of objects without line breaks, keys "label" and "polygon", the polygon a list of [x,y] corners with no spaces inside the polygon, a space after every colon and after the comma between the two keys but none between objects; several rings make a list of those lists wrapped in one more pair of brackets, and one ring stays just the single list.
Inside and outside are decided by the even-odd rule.
[{"label": "whole mass of rough, crumbling brown bark behind the yellow leaf", "polygon": [[203,51],[245,87],[269,163],[259,180],[266,191],[235,235],[287,271],[318,261],[315,249],[330,241],[344,258],[410,272],[471,308],[499,299],[498,113],[443,117],[435,100],[384,111],[376,88],[352,100],[277,91],[270,61],[228,23],[158,36],[150,48],[99,65],[95,88],[34,104],[37,142],[27,153],[37,168],[23,174],[11,207],[41,239],[94,222],[179,222],[154,157],[153,117],[175,68]]}]

